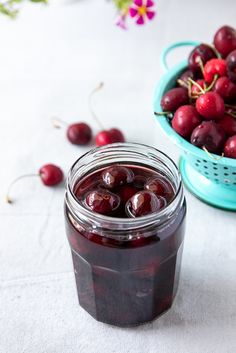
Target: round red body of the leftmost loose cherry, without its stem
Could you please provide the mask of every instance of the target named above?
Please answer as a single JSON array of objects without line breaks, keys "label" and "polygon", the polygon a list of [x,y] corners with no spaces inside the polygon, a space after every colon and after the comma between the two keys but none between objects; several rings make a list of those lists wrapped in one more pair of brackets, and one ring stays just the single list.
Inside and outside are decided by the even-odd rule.
[{"label": "round red body of the leftmost loose cherry, without its stem", "polygon": [[61,168],[54,164],[46,164],[39,169],[39,175],[44,185],[54,186],[60,184],[63,180],[63,172]]}]

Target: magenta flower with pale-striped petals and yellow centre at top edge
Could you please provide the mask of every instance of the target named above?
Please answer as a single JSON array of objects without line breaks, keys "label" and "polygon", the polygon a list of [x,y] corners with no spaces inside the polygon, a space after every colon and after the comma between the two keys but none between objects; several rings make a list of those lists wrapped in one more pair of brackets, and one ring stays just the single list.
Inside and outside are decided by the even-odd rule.
[{"label": "magenta flower with pale-striped petals and yellow centre at top edge", "polygon": [[146,18],[152,20],[155,16],[155,11],[152,9],[153,6],[154,2],[152,0],[134,0],[129,8],[129,14],[135,18],[138,25],[143,25]]}]

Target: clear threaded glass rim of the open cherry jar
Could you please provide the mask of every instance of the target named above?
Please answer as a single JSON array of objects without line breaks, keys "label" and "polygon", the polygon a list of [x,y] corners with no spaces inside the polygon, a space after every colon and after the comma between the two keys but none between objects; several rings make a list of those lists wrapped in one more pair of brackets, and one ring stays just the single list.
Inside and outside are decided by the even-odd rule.
[{"label": "clear threaded glass rim of the open cherry jar", "polygon": [[[112,152],[114,150],[117,149],[134,149],[134,150],[146,150],[146,152],[149,152],[150,154],[155,154],[157,156],[161,156],[166,162],[170,163],[171,166],[174,168],[175,171],[175,177],[177,179],[177,187],[175,190],[175,194],[173,199],[168,203],[168,205],[163,208],[160,211],[142,216],[142,217],[137,217],[137,218],[118,218],[118,217],[111,217],[111,216],[105,216],[99,213],[95,213],[87,208],[85,208],[81,203],[78,202],[74,191],[71,187],[71,181],[72,181],[72,177],[73,177],[73,172],[75,167],[78,165],[78,163],[80,163],[83,159],[86,159],[89,156],[92,156],[94,154],[98,153],[104,153],[105,152]],[[129,162],[127,160],[127,162]],[[148,163],[147,163],[148,166]],[[140,143],[113,143],[113,144],[109,144],[106,146],[101,146],[101,147],[96,147],[91,149],[90,151],[88,151],[87,153],[83,154],[82,156],[80,156],[75,163],[72,165],[72,167],[70,168],[67,180],[66,180],[66,195],[65,195],[65,199],[66,199],[66,204],[70,209],[70,212],[72,212],[72,214],[75,217],[78,217],[78,213],[80,218],[84,219],[85,221],[87,219],[90,219],[94,222],[94,224],[96,225],[96,227],[104,227],[104,225],[111,229],[136,229],[139,227],[143,227],[144,225],[150,225],[153,223],[158,223],[158,220],[162,219],[162,218],[171,218],[171,216],[173,215],[173,213],[175,213],[176,208],[180,202],[181,199],[183,199],[183,187],[182,187],[182,179],[181,179],[181,175],[180,172],[178,170],[177,165],[175,164],[175,162],[168,156],[166,155],[164,152],[145,145],[145,144],[140,144]],[[71,207],[70,207],[71,206]],[[76,213],[73,211],[76,210]],[[161,223],[161,221],[159,221],[159,223]],[[101,226],[102,224],[102,226]],[[122,224],[122,228],[121,228],[121,224]]]}]

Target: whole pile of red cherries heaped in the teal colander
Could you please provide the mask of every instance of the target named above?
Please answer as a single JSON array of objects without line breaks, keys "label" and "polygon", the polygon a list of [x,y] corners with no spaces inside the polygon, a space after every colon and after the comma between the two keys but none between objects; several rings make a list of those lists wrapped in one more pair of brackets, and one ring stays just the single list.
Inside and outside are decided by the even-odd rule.
[{"label": "whole pile of red cherries heaped in the teal colander", "polygon": [[220,28],[214,46],[200,44],[177,87],[161,100],[173,129],[208,153],[236,158],[236,30]]}]

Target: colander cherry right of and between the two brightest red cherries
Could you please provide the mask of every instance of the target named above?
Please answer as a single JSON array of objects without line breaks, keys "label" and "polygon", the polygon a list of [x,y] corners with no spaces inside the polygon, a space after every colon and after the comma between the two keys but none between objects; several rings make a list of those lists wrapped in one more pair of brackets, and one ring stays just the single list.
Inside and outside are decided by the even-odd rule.
[{"label": "colander cherry right of and between the two brightest red cherries", "polygon": [[226,76],[218,78],[214,92],[218,93],[227,103],[236,102],[236,85]]}]

